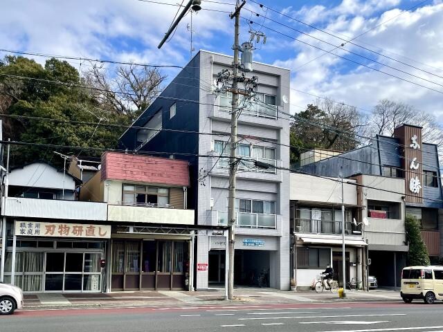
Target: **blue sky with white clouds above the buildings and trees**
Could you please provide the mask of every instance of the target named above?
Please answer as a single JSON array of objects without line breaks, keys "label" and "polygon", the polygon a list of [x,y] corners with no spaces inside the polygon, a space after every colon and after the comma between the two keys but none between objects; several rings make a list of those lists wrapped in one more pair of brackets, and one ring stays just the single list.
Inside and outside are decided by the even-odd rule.
[{"label": "blue sky with white clouds above the buildings and trees", "polygon": [[[223,3],[203,0],[202,7],[233,10],[232,5],[224,3],[235,1],[215,1]],[[163,2],[171,5],[181,3],[179,0]],[[267,35],[266,44],[255,50],[254,59],[291,68],[291,110],[294,112],[314,102],[315,95],[352,104],[362,112],[371,109],[378,100],[388,98],[413,104],[418,110],[433,113],[443,122],[443,93],[431,91],[443,92],[443,3],[437,0],[421,2],[263,0],[265,6],[293,18],[289,19],[248,1],[242,11],[244,19],[240,40],[248,39],[249,20],[254,22],[251,28]],[[417,8],[408,11],[416,5]],[[156,48],[168,30],[177,6],[138,0],[8,0],[3,3],[2,12],[0,48],[155,64],[184,65],[190,58],[190,33],[187,29],[190,15],[183,19],[170,42],[161,50]],[[259,13],[260,17],[253,12]],[[329,35],[294,19],[320,28]],[[233,22],[228,19],[228,14],[201,10],[193,16],[193,23],[194,47],[197,50],[203,48],[232,53]],[[343,42],[335,36],[349,40],[367,30],[370,32],[354,40],[356,45],[346,43],[333,51],[335,55],[313,47],[331,50],[334,47],[329,44],[338,46]],[[78,61],[72,64],[77,68],[89,65],[82,62],[80,67]],[[176,73],[168,71],[170,78]]]}]

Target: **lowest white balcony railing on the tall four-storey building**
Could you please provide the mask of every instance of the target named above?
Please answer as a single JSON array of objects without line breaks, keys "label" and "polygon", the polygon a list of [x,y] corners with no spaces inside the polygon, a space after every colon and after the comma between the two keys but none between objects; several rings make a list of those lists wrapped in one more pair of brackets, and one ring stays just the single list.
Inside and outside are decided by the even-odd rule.
[{"label": "lowest white balcony railing on the tall four-storey building", "polygon": [[[239,228],[266,228],[275,230],[277,228],[277,215],[265,213],[235,212],[236,227]],[[218,224],[228,225],[228,212],[218,212]]]}]

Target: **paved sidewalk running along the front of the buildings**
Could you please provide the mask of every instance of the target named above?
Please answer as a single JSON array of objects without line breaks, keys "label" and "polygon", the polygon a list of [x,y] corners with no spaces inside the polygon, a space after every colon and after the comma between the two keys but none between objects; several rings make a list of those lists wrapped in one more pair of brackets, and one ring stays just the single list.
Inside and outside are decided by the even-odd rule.
[{"label": "paved sidewalk running along the front of the buildings", "polygon": [[273,288],[237,288],[235,299],[225,301],[224,291],[134,291],[116,293],[76,293],[76,294],[26,294],[25,309],[47,308],[89,308],[89,307],[129,307],[129,306],[203,306],[219,304],[293,304],[327,302],[380,302],[401,300],[395,291],[347,291],[345,299],[325,291],[278,291]]}]

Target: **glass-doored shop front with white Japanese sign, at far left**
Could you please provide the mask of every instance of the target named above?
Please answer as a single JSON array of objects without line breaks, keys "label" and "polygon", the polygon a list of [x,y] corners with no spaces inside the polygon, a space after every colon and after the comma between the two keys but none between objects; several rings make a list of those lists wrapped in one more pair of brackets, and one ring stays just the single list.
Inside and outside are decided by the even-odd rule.
[{"label": "glass-doored shop front with white Japanese sign, at far left", "polygon": [[111,226],[84,223],[8,223],[4,282],[28,293],[100,293]]}]

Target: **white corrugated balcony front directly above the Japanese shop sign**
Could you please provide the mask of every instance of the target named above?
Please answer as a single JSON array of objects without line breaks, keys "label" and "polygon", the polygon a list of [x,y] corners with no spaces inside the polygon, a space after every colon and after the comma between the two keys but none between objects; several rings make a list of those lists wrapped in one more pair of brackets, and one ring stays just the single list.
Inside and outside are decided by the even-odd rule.
[{"label": "white corrugated balcony front directly above the Japanese shop sign", "polygon": [[107,204],[55,199],[6,197],[4,216],[46,219],[107,220]]}]

